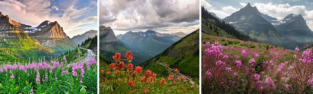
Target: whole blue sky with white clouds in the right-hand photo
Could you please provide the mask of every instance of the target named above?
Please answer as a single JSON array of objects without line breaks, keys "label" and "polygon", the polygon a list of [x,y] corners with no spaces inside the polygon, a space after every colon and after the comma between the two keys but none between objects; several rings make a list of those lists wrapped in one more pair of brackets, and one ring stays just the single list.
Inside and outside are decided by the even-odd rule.
[{"label": "whole blue sky with white clouds in the right-hand photo", "polygon": [[256,6],[259,12],[277,19],[283,19],[290,13],[301,14],[313,30],[313,0],[201,0],[202,6],[222,19],[248,3]]}]

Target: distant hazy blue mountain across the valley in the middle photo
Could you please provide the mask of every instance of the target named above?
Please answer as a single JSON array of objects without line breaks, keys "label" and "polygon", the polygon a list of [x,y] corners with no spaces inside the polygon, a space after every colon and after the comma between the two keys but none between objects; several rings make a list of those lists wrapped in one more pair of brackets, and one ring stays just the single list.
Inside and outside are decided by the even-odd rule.
[{"label": "distant hazy blue mountain across the valley in the middle photo", "polygon": [[182,32],[163,34],[152,30],[146,32],[132,32],[120,34],[116,37],[132,50],[139,50],[153,56],[160,54],[167,47],[178,41],[186,34]]}]

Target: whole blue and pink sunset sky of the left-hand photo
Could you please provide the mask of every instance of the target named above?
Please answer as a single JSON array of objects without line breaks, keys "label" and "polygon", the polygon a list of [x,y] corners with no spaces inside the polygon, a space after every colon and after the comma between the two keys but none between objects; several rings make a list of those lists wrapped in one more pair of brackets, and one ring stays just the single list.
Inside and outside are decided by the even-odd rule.
[{"label": "whole blue and pink sunset sky of the left-hand photo", "polygon": [[32,27],[57,21],[70,38],[98,30],[97,0],[0,0],[0,12]]}]

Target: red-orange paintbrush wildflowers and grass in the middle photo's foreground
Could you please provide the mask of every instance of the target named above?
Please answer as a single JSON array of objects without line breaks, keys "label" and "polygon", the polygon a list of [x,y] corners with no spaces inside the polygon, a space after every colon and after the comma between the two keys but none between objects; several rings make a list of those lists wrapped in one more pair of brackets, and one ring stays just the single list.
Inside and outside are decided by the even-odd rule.
[{"label": "red-orange paintbrush wildflowers and grass in the middle photo's foreground", "polygon": [[[191,86],[184,76],[157,76],[151,70],[143,70],[141,66],[131,63],[135,58],[131,51],[126,52],[126,59],[121,59],[121,53],[115,53],[111,63],[104,70],[100,70],[100,94],[198,94],[199,87]],[[125,63],[125,62],[126,63]]]}]

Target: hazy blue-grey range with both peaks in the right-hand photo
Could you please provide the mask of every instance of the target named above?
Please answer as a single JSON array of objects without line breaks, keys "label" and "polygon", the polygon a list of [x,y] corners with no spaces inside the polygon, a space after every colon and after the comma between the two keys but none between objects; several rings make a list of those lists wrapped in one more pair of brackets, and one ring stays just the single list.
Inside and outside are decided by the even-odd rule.
[{"label": "hazy blue-grey range with both peaks in the right-hand photo", "polygon": [[[249,34],[259,42],[294,49],[304,45],[312,31],[301,15],[290,14],[282,20],[260,13],[257,7],[248,3],[244,8],[223,18],[222,21],[233,25],[240,32]],[[303,48],[303,47],[302,47]]]}]

